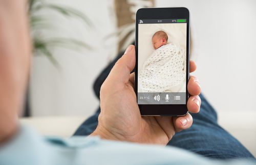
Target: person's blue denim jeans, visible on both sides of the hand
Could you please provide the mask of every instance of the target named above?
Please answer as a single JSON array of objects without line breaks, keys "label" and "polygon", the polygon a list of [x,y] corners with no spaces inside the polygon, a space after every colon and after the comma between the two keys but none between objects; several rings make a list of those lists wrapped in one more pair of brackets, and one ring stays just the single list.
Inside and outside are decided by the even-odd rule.
[{"label": "person's blue denim jeans, visible on both sides of the hand", "polygon": [[[101,84],[122,54],[123,52],[96,79],[94,91],[98,98]],[[193,125],[187,130],[176,133],[167,145],[179,147],[215,159],[254,159],[252,154],[236,138],[218,125],[215,109],[212,108],[202,94],[200,98],[202,101],[200,112],[191,114],[194,120]],[[99,113],[100,108],[81,124],[74,135],[91,134],[98,125]]]}]

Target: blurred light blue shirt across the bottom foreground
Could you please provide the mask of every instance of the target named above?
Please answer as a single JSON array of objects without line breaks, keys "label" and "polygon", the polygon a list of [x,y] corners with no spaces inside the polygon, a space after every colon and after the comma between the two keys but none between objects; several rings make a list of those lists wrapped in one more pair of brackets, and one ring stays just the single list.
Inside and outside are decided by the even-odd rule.
[{"label": "blurred light blue shirt across the bottom foreground", "polygon": [[0,147],[0,164],[256,164],[254,160],[217,161],[194,153],[159,145],[142,145],[98,136],[42,137],[21,126]]}]

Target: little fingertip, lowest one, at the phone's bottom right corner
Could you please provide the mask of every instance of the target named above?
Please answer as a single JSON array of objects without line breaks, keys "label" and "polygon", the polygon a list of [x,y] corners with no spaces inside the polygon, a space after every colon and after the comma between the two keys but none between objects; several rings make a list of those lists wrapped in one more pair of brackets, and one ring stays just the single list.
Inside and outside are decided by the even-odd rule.
[{"label": "little fingertip, lowest one, at the phone's bottom right corner", "polygon": [[193,117],[187,113],[185,116],[173,117],[174,128],[176,132],[191,127],[193,123]]}]

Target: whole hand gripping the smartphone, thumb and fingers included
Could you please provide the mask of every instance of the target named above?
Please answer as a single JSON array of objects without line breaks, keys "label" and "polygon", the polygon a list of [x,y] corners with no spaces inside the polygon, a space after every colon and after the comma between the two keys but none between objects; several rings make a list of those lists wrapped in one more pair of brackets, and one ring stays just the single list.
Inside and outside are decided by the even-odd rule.
[{"label": "whole hand gripping the smartphone, thumb and fingers included", "polygon": [[[91,135],[101,138],[125,140],[137,143],[166,145],[175,132],[189,128],[192,116],[141,116],[134,91],[135,48],[130,45],[124,55],[116,62],[100,89],[100,108],[98,127]],[[196,64],[190,61],[190,72]],[[199,112],[201,92],[198,80],[190,77],[188,81],[187,108],[189,112]]]}]

